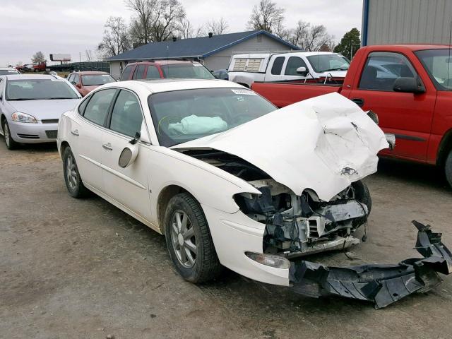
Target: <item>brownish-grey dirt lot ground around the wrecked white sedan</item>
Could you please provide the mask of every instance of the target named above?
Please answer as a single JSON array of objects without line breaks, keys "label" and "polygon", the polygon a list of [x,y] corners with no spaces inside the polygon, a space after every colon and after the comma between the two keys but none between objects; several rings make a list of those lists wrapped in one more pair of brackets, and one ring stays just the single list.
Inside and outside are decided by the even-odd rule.
[{"label": "brownish-grey dirt lot ground around the wrecked white sedan", "polygon": [[[452,247],[452,191],[431,167],[381,162],[367,179],[369,240],[311,260],[392,263],[416,256],[410,220]],[[452,276],[376,311],[309,299],[232,272],[186,283],[165,239],[93,196],[70,198],[54,146],[0,138],[0,338],[452,338]]]}]

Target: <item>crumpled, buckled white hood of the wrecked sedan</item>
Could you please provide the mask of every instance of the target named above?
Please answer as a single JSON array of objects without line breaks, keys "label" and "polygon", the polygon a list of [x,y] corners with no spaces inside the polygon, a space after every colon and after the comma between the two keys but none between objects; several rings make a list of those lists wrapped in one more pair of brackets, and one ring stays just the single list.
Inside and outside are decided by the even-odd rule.
[{"label": "crumpled, buckled white hood of the wrecked sedan", "polygon": [[301,195],[323,201],[376,172],[376,154],[388,148],[383,131],[338,93],[277,109],[234,129],[172,148],[213,148],[250,162]]}]

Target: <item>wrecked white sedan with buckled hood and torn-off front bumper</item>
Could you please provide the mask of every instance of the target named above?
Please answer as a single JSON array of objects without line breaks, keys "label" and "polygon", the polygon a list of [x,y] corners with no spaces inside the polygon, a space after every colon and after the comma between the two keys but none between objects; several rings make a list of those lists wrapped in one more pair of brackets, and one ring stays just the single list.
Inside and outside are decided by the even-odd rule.
[{"label": "wrecked white sedan with buckled hood and torn-off front bumper", "polygon": [[[276,109],[241,85],[181,79],[102,85],[63,115],[57,141],[69,194],[93,191],[165,234],[186,280],[226,266],[313,296],[340,275],[291,258],[359,242],[371,210],[361,179],[388,147],[337,94]],[[376,302],[376,285],[361,299]]]}]

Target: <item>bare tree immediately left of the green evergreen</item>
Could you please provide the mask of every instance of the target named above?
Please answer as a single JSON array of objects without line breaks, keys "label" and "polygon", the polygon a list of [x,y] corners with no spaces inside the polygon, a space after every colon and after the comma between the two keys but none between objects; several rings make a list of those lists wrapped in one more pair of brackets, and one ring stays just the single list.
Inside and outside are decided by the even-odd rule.
[{"label": "bare tree immediately left of the green evergreen", "polygon": [[328,35],[323,25],[311,25],[299,20],[297,27],[291,31],[289,41],[307,51],[319,51],[323,44],[333,44],[333,37]]}]

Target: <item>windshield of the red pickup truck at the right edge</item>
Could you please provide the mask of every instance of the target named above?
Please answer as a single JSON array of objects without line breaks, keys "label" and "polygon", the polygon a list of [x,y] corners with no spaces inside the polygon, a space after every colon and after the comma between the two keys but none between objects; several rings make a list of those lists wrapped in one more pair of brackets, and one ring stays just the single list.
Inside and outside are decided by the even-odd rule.
[{"label": "windshield of the red pickup truck at the right edge", "polygon": [[451,49],[426,49],[415,52],[437,90],[452,90]]}]

